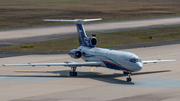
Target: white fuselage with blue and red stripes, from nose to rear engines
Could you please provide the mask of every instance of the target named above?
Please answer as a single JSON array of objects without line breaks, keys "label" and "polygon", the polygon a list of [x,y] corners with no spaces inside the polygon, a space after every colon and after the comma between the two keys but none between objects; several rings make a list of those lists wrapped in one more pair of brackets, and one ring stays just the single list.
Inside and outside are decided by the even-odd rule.
[{"label": "white fuselage with blue and red stripes, from nose to rear engines", "polygon": [[101,62],[104,67],[126,72],[136,72],[142,69],[139,57],[130,52],[85,46],[80,46],[78,50],[83,53],[82,59],[86,62]]}]

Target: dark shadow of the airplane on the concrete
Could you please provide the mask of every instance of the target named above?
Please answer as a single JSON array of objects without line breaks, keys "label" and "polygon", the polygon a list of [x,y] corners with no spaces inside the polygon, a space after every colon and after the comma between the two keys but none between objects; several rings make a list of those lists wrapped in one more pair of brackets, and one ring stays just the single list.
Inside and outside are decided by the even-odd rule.
[{"label": "dark shadow of the airplane on the concrete", "polygon": [[[170,72],[171,70],[161,70],[161,71],[149,71],[149,72],[139,72],[133,73],[133,75],[144,75],[144,74],[153,74],[153,73],[163,73],[163,72]],[[125,80],[115,79],[117,77],[126,77],[127,75],[114,73],[114,74],[102,74],[99,72],[78,72],[78,76],[72,77],[69,76],[69,70],[62,70],[62,71],[15,71],[15,72],[23,72],[23,73],[55,73],[61,74],[59,76],[51,76],[51,75],[0,75],[0,77],[52,77],[52,78],[91,78],[98,81],[103,81],[111,84],[123,84],[123,85],[134,85],[135,83],[126,82]],[[133,79],[133,77],[132,77]]]}]

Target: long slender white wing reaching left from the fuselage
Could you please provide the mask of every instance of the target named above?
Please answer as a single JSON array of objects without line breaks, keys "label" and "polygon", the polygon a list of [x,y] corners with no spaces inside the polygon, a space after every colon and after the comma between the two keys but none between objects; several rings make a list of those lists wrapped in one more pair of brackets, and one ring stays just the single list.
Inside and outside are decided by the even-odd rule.
[{"label": "long slender white wing reaching left from the fuselage", "polygon": [[27,64],[4,64],[3,66],[102,66],[101,62],[65,62],[65,63],[27,63]]}]

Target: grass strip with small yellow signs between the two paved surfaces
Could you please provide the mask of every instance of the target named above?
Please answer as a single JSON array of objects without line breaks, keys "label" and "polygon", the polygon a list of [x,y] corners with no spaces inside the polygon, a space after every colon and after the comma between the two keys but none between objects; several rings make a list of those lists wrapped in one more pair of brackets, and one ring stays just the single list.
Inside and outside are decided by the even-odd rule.
[{"label": "grass strip with small yellow signs between the two paved surfaces", "polygon": [[[152,36],[153,39],[139,39],[139,36]],[[127,45],[139,45],[147,43],[158,43],[168,41],[180,40],[180,26],[169,28],[153,28],[135,31],[124,31],[115,33],[102,33],[97,34],[98,45],[97,47],[117,47]],[[129,41],[130,40],[130,41]],[[32,45],[34,48],[20,48],[24,45]],[[37,42],[24,45],[0,47],[1,52],[67,52],[71,49],[76,49],[78,38],[67,38],[59,40],[51,40],[44,42]]]}]

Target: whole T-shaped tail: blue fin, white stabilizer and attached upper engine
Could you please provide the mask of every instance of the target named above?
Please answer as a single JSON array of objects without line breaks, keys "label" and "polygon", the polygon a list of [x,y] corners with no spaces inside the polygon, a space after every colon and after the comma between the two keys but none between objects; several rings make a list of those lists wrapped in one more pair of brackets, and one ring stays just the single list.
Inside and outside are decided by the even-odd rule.
[{"label": "whole T-shaped tail: blue fin, white stabilizer and attached upper engine", "polygon": [[95,47],[97,45],[97,38],[96,37],[87,37],[83,23],[87,21],[97,21],[102,20],[101,18],[98,19],[74,19],[74,20],[57,20],[57,19],[43,19],[43,21],[61,21],[61,22],[75,22],[78,32],[79,38],[79,45],[86,46],[86,47]]}]

